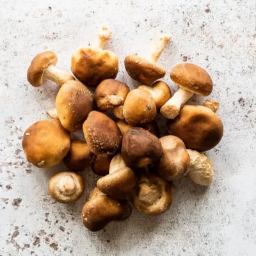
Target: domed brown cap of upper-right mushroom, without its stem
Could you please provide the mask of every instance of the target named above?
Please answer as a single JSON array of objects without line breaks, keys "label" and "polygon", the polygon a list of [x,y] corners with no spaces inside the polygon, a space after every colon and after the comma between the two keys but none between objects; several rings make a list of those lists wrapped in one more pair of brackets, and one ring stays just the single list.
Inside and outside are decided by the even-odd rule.
[{"label": "domed brown cap of upper-right mushroom, without its stem", "polygon": [[192,63],[180,63],[173,67],[171,79],[190,92],[208,96],[212,92],[212,79],[203,69]]}]

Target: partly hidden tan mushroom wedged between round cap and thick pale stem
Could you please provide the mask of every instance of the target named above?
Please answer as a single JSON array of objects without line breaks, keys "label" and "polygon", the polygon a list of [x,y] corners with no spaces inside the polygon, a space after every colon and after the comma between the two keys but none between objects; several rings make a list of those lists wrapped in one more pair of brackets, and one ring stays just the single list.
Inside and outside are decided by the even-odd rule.
[{"label": "partly hidden tan mushroom wedged between round cap and thick pale stem", "polygon": [[161,109],[172,97],[172,92],[169,86],[163,81],[157,81],[152,86],[141,85],[138,89],[146,90],[152,95],[157,109]]}]

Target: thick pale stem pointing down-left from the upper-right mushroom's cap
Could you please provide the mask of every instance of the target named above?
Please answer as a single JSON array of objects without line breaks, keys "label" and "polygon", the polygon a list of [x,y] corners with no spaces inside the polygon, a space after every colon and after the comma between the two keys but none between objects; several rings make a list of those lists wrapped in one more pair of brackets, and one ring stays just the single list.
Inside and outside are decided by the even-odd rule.
[{"label": "thick pale stem pointing down-left from the upper-right mushroom's cap", "polygon": [[167,119],[174,119],[179,115],[180,108],[193,96],[193,92],[179,88],[173,97],[160,109],[161,114]]}]

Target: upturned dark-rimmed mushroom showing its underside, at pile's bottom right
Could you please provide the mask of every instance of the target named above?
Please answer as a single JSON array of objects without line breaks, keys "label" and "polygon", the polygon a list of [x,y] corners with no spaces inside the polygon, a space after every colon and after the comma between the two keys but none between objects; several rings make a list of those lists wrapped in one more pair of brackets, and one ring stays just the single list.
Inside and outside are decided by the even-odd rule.
[{"label": "upturned dark-rimmed mushroom showing its underside, at pile's bottom right", "polygon": [[173,201],[173,184],[152,173],[143,173],[131,196],[134,207],[147,215],[167,211]]}]

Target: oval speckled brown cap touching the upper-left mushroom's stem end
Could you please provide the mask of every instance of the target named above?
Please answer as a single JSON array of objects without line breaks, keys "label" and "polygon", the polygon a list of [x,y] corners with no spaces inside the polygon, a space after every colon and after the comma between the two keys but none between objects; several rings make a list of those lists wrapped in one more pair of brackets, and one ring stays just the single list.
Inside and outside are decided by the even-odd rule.
[{"label": "oval speckled brown cap touching the upper-left mushroom's stem end", "polygon": [[79,81],[63,84],[55,105],[61,124],[70,132],[81,130],[84,120],[94,108],[92,93]]}]

